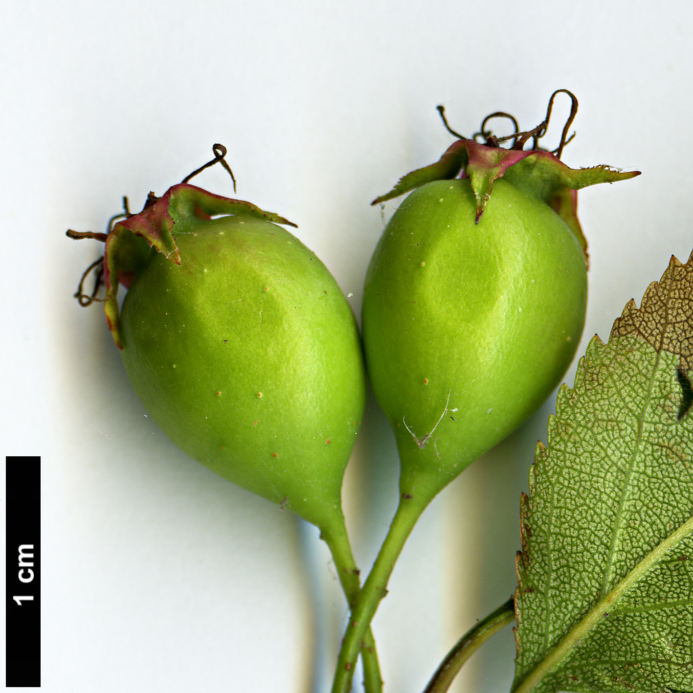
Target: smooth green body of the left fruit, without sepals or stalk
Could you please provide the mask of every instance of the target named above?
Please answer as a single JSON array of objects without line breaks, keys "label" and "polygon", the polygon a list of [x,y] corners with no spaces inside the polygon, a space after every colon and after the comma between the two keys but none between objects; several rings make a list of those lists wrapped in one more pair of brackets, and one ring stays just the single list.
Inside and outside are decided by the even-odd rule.
[{"label": "smooth green body of the left fruit, without sepals or stalk", "polygon": [[123,302],[132,386],[191,457],[321,528],[341,523],[365,373],[339,286],[270,222],[187,220],[174,236],[181,265],[153,254]]}]

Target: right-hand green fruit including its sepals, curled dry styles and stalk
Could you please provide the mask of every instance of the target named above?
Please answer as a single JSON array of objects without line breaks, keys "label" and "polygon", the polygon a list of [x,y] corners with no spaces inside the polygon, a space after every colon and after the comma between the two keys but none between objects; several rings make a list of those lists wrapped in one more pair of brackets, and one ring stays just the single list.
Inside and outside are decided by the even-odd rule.
[{"label": "right-hand green fruit including its sepals, curled dry styles and stalk", "polygon": [[[572,108],[556,157],[538,140],[561,92]],[[428,503],[532,414],[572,360],[587,298],[575,191],[638,175],[560,161],[577,110],[565,89],[527,132],[495,112],[466,139],[438,110],[457,141],[372,203],[414,190],[383,231],[362,307],[369,376],[396,436],[401,500],[351,609],[333,693],[351,690],[360,640]],[[495,117],[511,119],[515,134],[494,137],[486,123]],[[525,150],[530,138],[535,149]],[[509,140],[509,149],[500,146]],[[435,676],[429,687],[441,681]]]}]

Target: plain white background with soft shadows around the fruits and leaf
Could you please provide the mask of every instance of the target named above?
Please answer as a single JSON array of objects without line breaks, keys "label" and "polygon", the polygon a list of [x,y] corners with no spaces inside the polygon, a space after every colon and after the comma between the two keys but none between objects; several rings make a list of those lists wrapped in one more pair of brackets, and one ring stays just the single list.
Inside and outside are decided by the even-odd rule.
[{"label": "plain white background with soft shadows around the fruits and leaf", "polygon": [[[346,616],[312,527],[192,462],[146,418],[100,308],[71,297],[99,244],[65,229],[103,230],[121,195],[139,209],[222,142],[238,197],[297,222],[358,316],[382,229],[369,201],[452,141],[435,106],[466,134],[498,109],[531,128],[566,87],[580,110],[563,160],[642,170],[580,193],[592,258],[584,353],[669,256],[685,261],[693,247],[692,7],[3,4],[0,453],[42,456],[44,690],[321,693]],[[565,112],[562,102],[547,146]],[[196,182],[232,195],[220,169]],[[414,530],[374,621],[387,693],[422,690],[514,590],[519,494],[552,406]],[[344,491],[364,569],[396,483],[394,438],[371,400]],[[455,690],[509,690],[513,657],[507,629]]]}]

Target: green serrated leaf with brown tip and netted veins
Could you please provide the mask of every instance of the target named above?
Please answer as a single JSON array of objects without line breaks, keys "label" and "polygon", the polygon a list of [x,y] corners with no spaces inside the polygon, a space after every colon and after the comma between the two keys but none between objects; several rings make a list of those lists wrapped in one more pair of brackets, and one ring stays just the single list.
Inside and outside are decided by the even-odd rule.
[{"label": "green serrated leaf with brown tip and netted veins", "polygon": [[559,391],[521,503],[514,693],[693,690],[692,367],[693,254]]}]

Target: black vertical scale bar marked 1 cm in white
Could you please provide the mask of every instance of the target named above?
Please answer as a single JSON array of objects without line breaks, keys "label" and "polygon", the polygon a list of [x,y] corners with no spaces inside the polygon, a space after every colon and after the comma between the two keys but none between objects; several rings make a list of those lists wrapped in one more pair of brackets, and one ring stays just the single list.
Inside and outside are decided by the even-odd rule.
[{"label": "black vertical scale bar marked 1 cm in white", "polygon": [[41,687],[41,458],[6,457],[7,687]]}]

